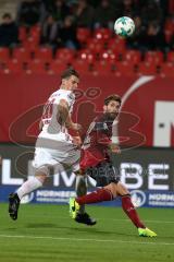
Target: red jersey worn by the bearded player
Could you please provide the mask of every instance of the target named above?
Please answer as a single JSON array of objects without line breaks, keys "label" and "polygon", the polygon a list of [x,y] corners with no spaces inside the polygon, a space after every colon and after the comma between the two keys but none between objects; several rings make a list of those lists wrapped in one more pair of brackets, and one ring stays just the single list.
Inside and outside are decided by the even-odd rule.
[{"label": "red jersey worn by the bearded player", "polygon": [[113,120],[110,120],[107,114],[98,116],[90,123],[82,150],[83,170],[109,160],[108,145],[111,143],[112,123]]}]

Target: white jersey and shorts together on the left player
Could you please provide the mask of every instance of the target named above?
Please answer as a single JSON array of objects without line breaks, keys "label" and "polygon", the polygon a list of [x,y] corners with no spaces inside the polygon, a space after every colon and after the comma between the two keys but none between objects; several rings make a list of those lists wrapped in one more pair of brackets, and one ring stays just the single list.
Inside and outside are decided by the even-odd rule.
[{"label": "white jersey and shorts together on the left player", "polygon": [[59,166],[60,164],[71,167],[73,170],[79,169],[80,151],[74,145],[73,138],[69,134],[65,124],[59,122],[58,105],[61,99],[66,100],[71,114],[75,95],[66,90],[54,92],[44,108],[42,131],[36,141],[33,162],[34,167],[39,168],[44,174],[49,174],[48,167]]}]

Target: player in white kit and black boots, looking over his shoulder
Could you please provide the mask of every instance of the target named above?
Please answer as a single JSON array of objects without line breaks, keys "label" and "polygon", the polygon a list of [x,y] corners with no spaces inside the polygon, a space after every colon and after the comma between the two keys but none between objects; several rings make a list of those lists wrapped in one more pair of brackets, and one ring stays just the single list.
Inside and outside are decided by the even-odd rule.
[{"label": "player in white kit and black boots, looking over his shoulder", "polygon": [[[69,129],[79,131],[80,124],[72,121],[71,112],[75,102],[74,90],[78,87],[79,75],[70,68],[61,75],[61,85],[46,103],[40,121],[40,133],[36,141],[34,167],[35,176],[25,181],[14,193],[9,195],[9,214],[12,219],[17,219],[21,199],[32,191],[40,188],[50,170],[58,171],[62,167],[71,168],[76,176],[77,196],[87,192],[86,178],[78,174],[79,144],[69,134]],[[78,223],[95,225],[96,221],[85,212],[85,206],[76,218]]]}]

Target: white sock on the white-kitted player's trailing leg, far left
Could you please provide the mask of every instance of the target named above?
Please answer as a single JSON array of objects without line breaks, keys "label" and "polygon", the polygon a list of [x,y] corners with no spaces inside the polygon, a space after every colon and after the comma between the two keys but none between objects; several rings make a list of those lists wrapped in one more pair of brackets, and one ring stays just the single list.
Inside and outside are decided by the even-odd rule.
[{"label": "white sock on the white-kitted player's trailing leg, far left", "polygon": [[36,177],[30,178],[29,180],[25,181],[16,191],[20,200],[25,195],[30,193],[32,191],[40,188],[42,182],[40,182]]}]

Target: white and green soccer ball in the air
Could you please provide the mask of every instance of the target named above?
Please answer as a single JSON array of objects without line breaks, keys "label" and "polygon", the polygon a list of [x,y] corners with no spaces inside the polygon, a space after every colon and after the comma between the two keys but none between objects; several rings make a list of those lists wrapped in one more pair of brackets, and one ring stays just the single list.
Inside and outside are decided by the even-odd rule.
[{"label": "white and green soccer ball in the air", "polygon": [[122,16],[114,23],[114,32],[122,37],[129,37],[135,31],[134,21],[128,16]]}]

